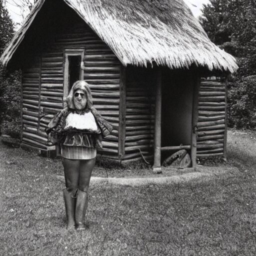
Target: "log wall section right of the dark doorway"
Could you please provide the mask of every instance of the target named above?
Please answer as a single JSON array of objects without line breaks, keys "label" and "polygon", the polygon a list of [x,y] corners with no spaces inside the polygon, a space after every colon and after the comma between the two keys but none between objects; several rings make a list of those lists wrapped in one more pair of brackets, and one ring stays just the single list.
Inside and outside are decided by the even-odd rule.
[{"label": "log wall section right of the dark doorway", "polygon": [[225,84],[218,79],[201,79],[198,101],[196,157],[224,154]]}]

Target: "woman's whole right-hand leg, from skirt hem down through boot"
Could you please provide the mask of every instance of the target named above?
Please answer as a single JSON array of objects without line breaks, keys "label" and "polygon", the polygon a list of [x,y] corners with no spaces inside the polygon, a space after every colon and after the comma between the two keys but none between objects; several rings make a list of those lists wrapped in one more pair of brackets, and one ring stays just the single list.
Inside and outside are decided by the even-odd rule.
[{"label": "woman's whole right-hand leg, from skirt hem down through boot", "polygon": [[80,161],[79,184],[75,207],[75,224],[78,230],[85,229],[84,217],[88,205],[88,188],[95,158]]}]

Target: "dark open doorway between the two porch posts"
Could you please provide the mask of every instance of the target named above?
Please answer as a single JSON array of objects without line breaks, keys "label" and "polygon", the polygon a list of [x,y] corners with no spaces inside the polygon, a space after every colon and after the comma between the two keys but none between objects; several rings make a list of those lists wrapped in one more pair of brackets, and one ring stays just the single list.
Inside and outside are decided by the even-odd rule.
[{"label": "dark open doorway between the two porch posts", "polygon": [[178,146],[191,144],[193,86],[187,70],[162,73],[161,146],[173,147],[162,151],[162,160],[178,151]]}]

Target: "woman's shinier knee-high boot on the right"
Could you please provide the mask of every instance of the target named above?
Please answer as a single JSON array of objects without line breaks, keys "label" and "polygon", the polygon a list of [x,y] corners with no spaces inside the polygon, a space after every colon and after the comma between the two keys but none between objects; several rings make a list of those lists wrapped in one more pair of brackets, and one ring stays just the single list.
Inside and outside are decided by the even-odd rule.
[{"label": "woman's shinier knee-high boot on the right", "polygon": [[88,192],[77,190],[75,204],[75,227],[77,230],[85,229],[84,218],[88,205]]}]

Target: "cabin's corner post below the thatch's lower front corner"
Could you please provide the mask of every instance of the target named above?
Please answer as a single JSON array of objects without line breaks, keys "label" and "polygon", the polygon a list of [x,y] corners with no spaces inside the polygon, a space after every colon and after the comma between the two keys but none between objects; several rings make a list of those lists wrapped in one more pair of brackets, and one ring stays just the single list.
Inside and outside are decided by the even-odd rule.
[{"label": "cabin's corner post below the thatch's lower front corner", "polygon": [[118,157],[121,162],[125,154],[126,129],[126,68],[120,63],[120,101],[119,101],[119,127],[118,127]]}]

